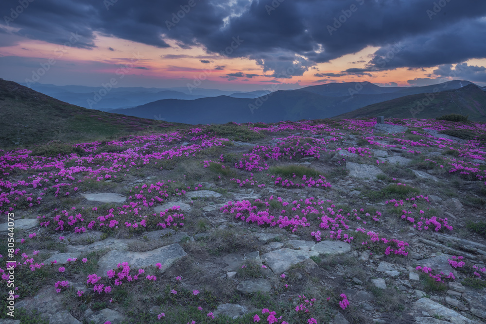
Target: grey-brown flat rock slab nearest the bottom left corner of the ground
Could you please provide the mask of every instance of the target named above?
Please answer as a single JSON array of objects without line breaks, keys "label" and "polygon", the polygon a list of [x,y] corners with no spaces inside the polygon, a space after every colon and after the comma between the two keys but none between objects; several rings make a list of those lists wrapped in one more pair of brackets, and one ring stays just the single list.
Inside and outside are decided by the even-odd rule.
[{"label": "grey-brown flat rock slab nearest the bottom left corner of the ground", "polygon": [[36,310],[37,314],[44,319],[48,319],[51,324],[81,324],[78,320],[64,309],[63,294],[56,293],[54,286],[47,286],[40,289],[35,296],[29,296],[15,303],[15,308],[21,307],[27,310]]}]

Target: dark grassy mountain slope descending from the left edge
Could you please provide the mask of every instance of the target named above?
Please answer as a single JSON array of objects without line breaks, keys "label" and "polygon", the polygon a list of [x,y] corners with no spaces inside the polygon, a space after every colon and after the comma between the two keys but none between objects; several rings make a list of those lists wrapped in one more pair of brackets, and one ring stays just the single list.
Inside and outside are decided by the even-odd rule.
[{"label": "dark grassy mountain slope descending from the left edge", "polygon": [[98,138],[167,126],[171,124],[78,107],[0,79],[1,148],[53,139]]}]

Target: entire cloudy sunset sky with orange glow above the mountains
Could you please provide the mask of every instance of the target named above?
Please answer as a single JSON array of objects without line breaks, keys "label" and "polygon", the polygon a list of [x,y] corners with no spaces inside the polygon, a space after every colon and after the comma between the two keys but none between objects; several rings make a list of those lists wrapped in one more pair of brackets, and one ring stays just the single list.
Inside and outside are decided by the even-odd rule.
[{"label": "entire cloudy sunset sky with orange glow above the mountains", "polygon": [[486,85],[484,0],[2,0],[0,77],[222,90]]}]

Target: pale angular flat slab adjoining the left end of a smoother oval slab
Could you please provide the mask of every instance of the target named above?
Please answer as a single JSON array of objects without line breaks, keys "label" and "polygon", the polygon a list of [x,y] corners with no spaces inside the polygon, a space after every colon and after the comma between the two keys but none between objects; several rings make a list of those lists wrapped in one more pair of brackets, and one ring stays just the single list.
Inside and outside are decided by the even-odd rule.
[{"label": "pale angular flat slab adjoining the left end of a smoother oval slab", "polygon": [[268,264],[273,273],[280,275],[289,270],[294,264],[298,264],[311,256],[319,256],[319,253],[282,248],[265,253],[261,256],[261,259]]}]

